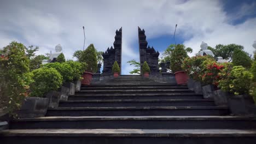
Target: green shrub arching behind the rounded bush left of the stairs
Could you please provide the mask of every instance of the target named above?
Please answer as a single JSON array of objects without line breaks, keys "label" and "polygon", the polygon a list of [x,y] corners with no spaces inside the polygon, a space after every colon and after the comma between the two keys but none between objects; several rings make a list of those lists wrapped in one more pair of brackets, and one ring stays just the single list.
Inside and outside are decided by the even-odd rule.
[{"label": "green shrub arching behind the rounded bush left of the stairs", "polygon": [[63,77],[63,82],[72,82],[73,81],[73,70],[69,64],[65,63],[48,63],[44,64],[43,68],[55,68]]}]

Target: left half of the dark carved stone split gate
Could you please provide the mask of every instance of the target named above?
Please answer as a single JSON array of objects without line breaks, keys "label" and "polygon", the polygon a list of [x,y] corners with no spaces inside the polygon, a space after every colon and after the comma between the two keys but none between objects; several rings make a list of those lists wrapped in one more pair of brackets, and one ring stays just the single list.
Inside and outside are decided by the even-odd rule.
[{"label": "left half of the dark carved stone split gate", "polygon": [[112,66],[115,61],[117,61],[120,67],[121,74],[121,56],[122,56],[122,28],[115,32],[115,41],[114,41],[114,49],[111,46],[110,49],[108,47],[107,51],[103,53],[103,71],[102,76],[110,76],[112,75]]}]

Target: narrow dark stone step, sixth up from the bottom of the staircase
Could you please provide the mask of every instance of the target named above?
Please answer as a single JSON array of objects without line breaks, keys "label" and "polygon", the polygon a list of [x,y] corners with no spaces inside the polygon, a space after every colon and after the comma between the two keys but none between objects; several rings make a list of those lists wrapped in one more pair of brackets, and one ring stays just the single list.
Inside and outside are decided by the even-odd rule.
[{"label": "narrow dark stone step, sixth up from the bottom of the staircase", "polygon": [[189,89],[104,89],[104,90],[82,90],[75,94],[150,94],[150,93],[194,93]]}]

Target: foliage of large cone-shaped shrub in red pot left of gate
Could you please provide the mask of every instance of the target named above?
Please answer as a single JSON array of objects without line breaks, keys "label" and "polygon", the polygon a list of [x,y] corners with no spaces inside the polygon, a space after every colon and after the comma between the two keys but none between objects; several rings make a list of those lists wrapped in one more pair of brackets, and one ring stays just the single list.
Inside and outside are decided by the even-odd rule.
[{"label": "foliage of large cone-shaped shrub in red pot left of gate", "polygon": [[93,44],[90,44],[87,49],[80,54],[79,62],[87,64],[85,71],[92,73],[97,71],[97,54]]}]

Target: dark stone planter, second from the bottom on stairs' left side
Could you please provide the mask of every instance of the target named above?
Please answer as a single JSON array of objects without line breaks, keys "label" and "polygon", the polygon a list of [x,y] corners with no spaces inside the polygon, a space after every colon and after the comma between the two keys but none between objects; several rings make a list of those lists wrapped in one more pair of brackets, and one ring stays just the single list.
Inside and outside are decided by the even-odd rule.
[{"label": "dark stone planter, second from the bottom on stairs' left side", "polygon": [[58,107],[61,98],[61,92],[50,91],[45,95],[45,97],[49,99],[49,107]]}]

